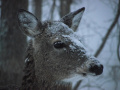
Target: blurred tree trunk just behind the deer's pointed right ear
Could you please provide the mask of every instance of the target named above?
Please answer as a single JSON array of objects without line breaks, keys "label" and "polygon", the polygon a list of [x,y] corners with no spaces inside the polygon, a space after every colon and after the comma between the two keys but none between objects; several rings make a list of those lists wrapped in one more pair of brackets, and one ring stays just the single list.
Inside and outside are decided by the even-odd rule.
[{"label": "blurred tree trunk just behind the deer's pointed right ear", "polygon": [[63,17],[70,12],[71,3],[72,0],[60,0],[60,17]]}]

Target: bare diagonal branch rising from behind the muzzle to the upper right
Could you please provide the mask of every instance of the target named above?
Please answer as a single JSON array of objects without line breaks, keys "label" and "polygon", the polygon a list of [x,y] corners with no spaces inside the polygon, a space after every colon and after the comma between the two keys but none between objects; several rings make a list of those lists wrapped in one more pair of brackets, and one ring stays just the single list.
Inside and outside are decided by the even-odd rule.
[{"label": "bare diagonal branch rising from behind the muzzle to the upper right", "polygon": [[110,33],[112,32],[113,28],[115,27],[116,23],[118,22],[119,15],[120,15],[120,8],[119,7],[120,7],[120,0],[119,0],[118,10],[117,10],[117,14],[115,16],[115,19],[114,19],[113,23],[111,24],[110,28],[108,29],[108,32],[106,33],[105,37],[103,38],[103,42],[101,43],[100,47],[96,51],[95,57],[97,57],[100,54],[100,52],[102,51],[102,49],[104,48],[105,43],[106,43]]}]

